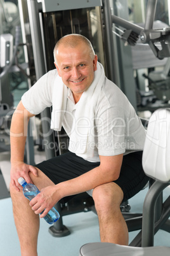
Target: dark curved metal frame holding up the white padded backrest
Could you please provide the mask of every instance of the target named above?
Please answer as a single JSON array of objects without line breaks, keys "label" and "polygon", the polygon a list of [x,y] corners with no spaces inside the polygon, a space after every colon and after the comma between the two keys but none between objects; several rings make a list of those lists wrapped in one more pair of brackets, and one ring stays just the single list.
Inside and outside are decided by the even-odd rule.
[{"label": "dark curved metal frame holding up the white padded backrest", "polygon": [[167,197],[164,203],[162,202],[163,190],[169,184],[155,181],[148,190],[147,196],[145,196],[141,217],[135,217],[134,215],[134,218],[126,221],[128,228],[131,229],[130,231],[141,229],[129,246],[154,246],[154,235],[159,229],[170,232],[170,220],[168,220],[170,217],[170,196]]}]

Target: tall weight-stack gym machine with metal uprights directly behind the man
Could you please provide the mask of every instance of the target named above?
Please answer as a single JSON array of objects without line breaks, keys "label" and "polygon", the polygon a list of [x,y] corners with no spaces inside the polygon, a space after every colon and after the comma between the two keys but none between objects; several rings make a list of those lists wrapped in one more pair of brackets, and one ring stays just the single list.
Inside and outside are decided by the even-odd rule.
[{"label": "tall weight-stack gym machine with metal uprights directly behind the man", "polygon": [[[65,34],[77,33],[86,36],[92,43],[99,61],[105,68],[105,73],[113,82],[117,80],[117,72],[113,66],[116,62],[113,38],[110,5],[108,1],[35,1],[27,0],[29,13],[30,34],[34,53],[34,64],[36,69],[36,80],[44,73],[54,69],[53,48],[56,41]],[[133,81],[133,76],[131,77]],[[131,83],[133,84],[133,82]],[[51,117],[51,109],[46,108],[41,113],[42,132],[49,134],[46,140],[54,142],[56,147],[49,148],[44,145],[46,159],[55,157],[67,150],[67,136],[64,131],[54,132],[50,124],[44,120]],[[49,132],[50,131],[50,132]],[[66,236],[70,231],[63,225],[62,216],[80,211],[89,211],[94,205],[93,199],[88,194],[80,194],[69,203],[56,204],[61,218],[49,232],[53,236]],[[125,208],[125,206],[122,206]],[[129,206],[128,206],[129,208]]]}]

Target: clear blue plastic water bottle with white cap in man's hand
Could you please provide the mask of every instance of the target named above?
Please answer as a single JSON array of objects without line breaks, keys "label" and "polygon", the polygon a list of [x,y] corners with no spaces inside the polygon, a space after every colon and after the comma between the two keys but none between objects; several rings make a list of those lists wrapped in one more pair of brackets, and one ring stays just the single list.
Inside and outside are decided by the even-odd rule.
[{"label": "clear blue plastic water bottle with white cap in man's hand", "polygon": [[[22,177],[18,178],[18,183],[20,183],[20,185],[22,185],[22,187],[23,187],[23,195],[27,199],[29,199],[29,201],[31,201],[34,197],[37,196],[37,194],[40,193],[40,191],[36,187],[36,185],[31,184],[31,183],[27,183]],[[43,213],[43,211],[42,211],[42,213]],[[56,222],[56,220],[58,220],[58,218],[60,218],[60,214],[53,207],[47,213],[47,215],[44,217],[44,220],[46,220],[46,222],[48,222],[48,224],[53,224],[54,222]]]}]

